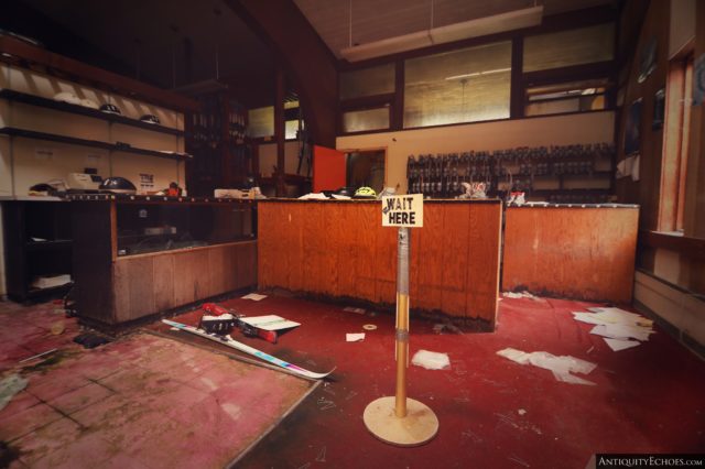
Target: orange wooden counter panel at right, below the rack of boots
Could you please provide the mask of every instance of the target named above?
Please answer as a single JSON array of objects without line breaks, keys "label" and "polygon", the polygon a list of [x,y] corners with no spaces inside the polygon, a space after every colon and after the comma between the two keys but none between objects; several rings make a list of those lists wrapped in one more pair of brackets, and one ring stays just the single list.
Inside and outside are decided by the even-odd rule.
[{"label": "orange wooden counter panel at right, below the rack of boots", "polygon": [[631,302],[638,208],[509,208],[502,290]]}]

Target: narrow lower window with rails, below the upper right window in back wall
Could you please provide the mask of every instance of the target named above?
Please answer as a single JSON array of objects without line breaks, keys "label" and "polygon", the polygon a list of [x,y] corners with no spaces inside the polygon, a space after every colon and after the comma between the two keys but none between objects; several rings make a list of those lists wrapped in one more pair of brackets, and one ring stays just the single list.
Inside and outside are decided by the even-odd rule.
[{"label": "narrow lower window with rails, below the upper right window in back wall", "polygon": [[586,112],[606,108],[607,78],[527,88],[524,116]]}]

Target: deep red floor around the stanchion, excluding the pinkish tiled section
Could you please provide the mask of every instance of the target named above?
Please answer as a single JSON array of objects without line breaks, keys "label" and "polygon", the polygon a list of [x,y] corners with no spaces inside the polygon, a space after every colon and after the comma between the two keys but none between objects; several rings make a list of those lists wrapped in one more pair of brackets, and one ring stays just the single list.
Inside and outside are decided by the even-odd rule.
[{"label": "deep red floor around the stanchion, excluding the pinkish tiled section", "polygon": [[[368,403],[394,393],[390,315],[359,316],[286,297],[226,305],[302,323],[276,346],[236,334],[238,340],[317,371],[337,366],[334,381],[240,467],[582,469],[595,452],[705,450],[705,362],[658,328],[641,346],[611,351],[571,315],[593,303],[505,298],[495,334],[435,335],[432,323],[412,320],[411,353],[445,352],[452,362],[449,370],[409,369],[409,396],[440,419],[436,438],[416,448],[383,444],[362,422]],[[362,342],[346,342],[345,334],[362,331],[364,324],[378,329]],[[547,370],[496,355],[507,347],[593,361],[597,368],[584,378],[596,385],[557,382]]]}]

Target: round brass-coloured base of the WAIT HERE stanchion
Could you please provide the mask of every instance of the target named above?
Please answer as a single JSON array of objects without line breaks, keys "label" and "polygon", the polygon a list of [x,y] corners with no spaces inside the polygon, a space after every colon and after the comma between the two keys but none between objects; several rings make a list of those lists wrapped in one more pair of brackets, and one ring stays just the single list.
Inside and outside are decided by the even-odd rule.
[{"label": "round brass-coloured base of the WAIT HERE stanchion", "polygon": [[438,432],[438,418],[419,401],[406,397],[406,416],[394,414],[394,396],[380,397],[365,408],[362,419],[372,435],[395,446],[420,446]]}]

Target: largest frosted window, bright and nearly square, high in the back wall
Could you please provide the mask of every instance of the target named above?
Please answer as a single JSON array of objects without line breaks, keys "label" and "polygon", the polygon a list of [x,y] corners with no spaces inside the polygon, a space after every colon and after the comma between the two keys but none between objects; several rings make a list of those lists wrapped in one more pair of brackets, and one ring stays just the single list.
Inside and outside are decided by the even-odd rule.
[{"label": "largest frosted window, bright and nearly square, high in the back wall", "polygon": [[511,42],[411,58],[404,128],[509,118]]}]

